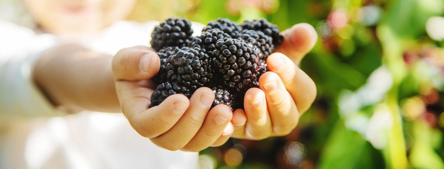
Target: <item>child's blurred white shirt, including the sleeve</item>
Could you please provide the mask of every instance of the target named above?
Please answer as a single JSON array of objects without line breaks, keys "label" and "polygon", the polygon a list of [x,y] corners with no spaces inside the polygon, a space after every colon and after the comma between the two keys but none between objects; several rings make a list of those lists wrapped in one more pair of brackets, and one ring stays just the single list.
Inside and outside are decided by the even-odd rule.
[{"label": "child's blurred white shirt, including the sleeve", "polygon": [[[149,45],[157,22],[116,22],[85,40],[97,52]],[[201,25],[193,23],[199,33]],[[138,135],[122,113],[66,115],[31,79],[50,34],[0,21],[0,169],[196,169],[198,154],[168,151]],[[32,118],[31,118],[32,117]]]}]

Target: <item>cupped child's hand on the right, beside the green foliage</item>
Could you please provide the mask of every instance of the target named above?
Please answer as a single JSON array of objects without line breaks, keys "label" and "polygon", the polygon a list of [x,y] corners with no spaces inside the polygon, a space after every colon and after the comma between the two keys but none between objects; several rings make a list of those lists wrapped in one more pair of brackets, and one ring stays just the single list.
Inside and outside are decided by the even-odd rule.
[{"label": "cupped child's hand on the right, beside the green foliage", "polygon": [[249,89],[245,110],[233,113],[234,138],[261,140],[287,135],[316,97],[314,82],[297,66],[316,43],[316,31],[308,24],[297,24],[282,34],[280,53],[268,57],[270,72],[260,77],[260,89]]}]

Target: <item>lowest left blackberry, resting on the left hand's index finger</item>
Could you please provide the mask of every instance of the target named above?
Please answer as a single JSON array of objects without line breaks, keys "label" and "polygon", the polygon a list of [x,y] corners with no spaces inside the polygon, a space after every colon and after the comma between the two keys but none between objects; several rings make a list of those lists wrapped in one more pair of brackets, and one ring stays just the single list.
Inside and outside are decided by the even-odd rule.
[{"label": "lowest left blackberry, resting on the left hand's index finger", "polygon": [[168,96],[171,96],[174,94],[183,94],[187,98],[190,98],[192,91],[190,91],[187,87],[182,86],[177,83],[165,82],[165,83],[159,84],[156,87],[156,90],[154,90],[154,92],[151,94],[151,104],[149,104],[149,108],[159,105]]}]

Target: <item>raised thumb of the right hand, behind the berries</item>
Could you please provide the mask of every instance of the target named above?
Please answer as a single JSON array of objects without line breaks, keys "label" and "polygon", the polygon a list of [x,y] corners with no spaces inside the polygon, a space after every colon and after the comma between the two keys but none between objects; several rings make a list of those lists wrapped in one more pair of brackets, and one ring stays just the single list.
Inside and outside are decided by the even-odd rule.
[{"label": "raised thumb of the right hand, behind the berries", "polygon": [[276,49],[276,52],[287,55],[296,65],[312,50],[318,37],[316,30],[307,23],[296,24],[292,28],[284,30],[282,36],[284,36],[284,41]]}]

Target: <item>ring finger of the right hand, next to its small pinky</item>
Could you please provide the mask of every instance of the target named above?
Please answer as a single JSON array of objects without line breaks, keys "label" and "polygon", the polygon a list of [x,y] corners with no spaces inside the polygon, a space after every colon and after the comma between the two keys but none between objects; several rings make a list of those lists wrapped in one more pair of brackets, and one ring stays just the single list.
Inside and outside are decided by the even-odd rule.
[{"label": "ring finger of the right hand, next to its small pinky", "polygon": [[247,124],[245,136],[247,139],[261,140],[271,134],[271,121],[265,102],[265,94],[259,88],[250,88],[245,94],[244,101]]}]

